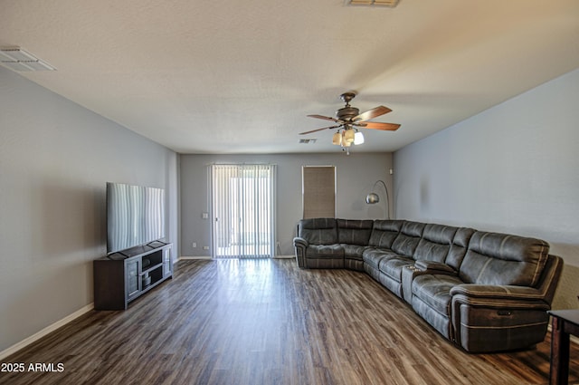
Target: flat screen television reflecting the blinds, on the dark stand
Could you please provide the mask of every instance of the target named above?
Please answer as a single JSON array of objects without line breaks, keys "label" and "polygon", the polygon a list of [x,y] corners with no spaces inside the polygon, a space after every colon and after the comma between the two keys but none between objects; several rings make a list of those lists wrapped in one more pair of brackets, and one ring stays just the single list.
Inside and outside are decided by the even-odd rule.
[{"label": "flat screen television reflecting the blinds, on the dark stand", "polygon": [[165,190],[107,183],[107,255],[165,238]]}]

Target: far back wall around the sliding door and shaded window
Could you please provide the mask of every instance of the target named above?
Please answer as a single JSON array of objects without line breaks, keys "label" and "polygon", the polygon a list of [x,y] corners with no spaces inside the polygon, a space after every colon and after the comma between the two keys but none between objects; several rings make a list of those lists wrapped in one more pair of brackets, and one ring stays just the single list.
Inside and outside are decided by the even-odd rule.
[{"label": "far back wall around the sliding door and shaded window", "polygon": [[[329,140],[329,138],[328,138]],[[293,255],[295,228],[302,215],[302,166],[336,166],[337,217],[384,218],[385,205],[365,204],[365,196],[377,179],[383,179],[392,194],[392,154],[363,154],[352,150],[349,156],[337,149],[335,154],[280,155],[182,155],[181,159],[181,253],[184,256],[209,256],[211,221],[202,218],[209,211],[207,166],[212,163],[272,163],[278,165],[277,239],[278,255]],[[383,188],[378,188],[382,197]],[[392,196],[391,196],[392,207]],[[197,244],[196,248],[192,243]]]}]

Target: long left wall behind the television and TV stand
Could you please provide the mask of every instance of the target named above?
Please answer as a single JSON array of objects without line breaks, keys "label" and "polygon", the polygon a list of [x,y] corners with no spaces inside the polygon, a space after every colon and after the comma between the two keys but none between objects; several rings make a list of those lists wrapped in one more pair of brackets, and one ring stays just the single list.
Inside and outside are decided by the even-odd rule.
[{"label": "long left wall behind the television and TV stand", "polygon": [[107,181],[166,188],[177,245],[176,153],[0,67],[0,352],[92,303]]}]

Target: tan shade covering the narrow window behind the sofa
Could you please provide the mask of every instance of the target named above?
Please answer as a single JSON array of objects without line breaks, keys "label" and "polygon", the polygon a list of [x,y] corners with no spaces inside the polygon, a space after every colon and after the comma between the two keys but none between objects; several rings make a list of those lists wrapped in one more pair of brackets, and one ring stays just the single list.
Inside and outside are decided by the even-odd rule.
[{"label": "tan shade covering the narrow window behind the sofa", "polygon": [[303,217],[336,216],[336,168],[304,166],[301,168]]}]

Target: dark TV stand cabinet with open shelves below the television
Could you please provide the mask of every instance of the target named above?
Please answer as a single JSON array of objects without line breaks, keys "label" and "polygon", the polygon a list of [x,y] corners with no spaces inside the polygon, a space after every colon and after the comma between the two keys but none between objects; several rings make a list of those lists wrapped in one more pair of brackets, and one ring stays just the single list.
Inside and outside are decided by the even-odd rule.
[{"label": "dark TV stand cabinet with open shelves below the television", "polygon": [[152,242],[93,261],[94,309],[126,310],[128,303],[172,278],[171,246]]}]

